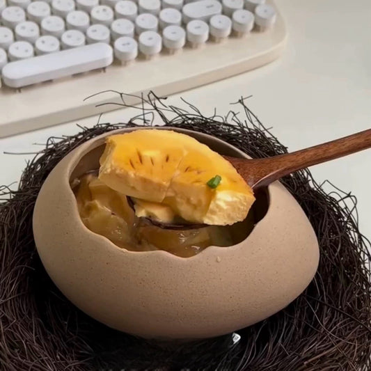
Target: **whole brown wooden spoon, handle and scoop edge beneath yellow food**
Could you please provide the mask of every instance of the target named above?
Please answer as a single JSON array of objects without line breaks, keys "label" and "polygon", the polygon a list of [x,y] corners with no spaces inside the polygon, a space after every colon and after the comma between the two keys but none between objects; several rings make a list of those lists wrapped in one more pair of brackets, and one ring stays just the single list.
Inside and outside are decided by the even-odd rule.
[{"label": "whole brown wooden spoon, handle and scoop edge beneath yellow food", "polygon": [[[224,158],[235,166],[246,183],[255,191],[308,166],[321,164],[367,148],[371,148],[371,129],[336,139],[336,141],[265,159],[240,159],[227,156]],[[155,226],[168,229],[185,230],[207,226],[205,224],[169,224],[144,219]]]}]

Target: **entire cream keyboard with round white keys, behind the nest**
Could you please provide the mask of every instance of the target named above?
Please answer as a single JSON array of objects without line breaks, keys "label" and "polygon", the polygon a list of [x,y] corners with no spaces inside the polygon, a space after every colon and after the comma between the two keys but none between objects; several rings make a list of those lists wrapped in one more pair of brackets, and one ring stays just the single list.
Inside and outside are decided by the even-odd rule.
[{"label": "entire cream keyboard with round white keys, behind the nest", "polygon": [[[8,1],[8,3],[6,3]],[[183,3],[183,1],[185,1]],[[0,0],[0,138],[171,95],[280,56],[265,0]],[[102,73],[105,72],[105,73]]]}]

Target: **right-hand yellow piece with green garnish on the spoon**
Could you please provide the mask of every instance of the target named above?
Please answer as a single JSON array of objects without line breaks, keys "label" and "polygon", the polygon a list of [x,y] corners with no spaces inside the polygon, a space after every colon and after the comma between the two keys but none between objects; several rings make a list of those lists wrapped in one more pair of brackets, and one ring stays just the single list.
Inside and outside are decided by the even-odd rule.
[{"label": "right-hand yellow piece with green garnish on the spoon", "polygon": [[[207,182],[216,175],[221,182],[212,189]],[[244,220],[254,200],[232,164],[197,142],[180,162],[164,203],[187,221],[225,226]]]}]

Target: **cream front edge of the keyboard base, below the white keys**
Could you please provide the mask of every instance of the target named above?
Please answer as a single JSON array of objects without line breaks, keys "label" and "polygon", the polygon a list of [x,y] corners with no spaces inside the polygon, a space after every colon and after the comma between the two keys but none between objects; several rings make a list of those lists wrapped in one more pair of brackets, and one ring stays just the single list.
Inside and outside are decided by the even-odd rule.
[{"label": "cream front edge of the keyboard base, below the white keys", "polygon": [[[273,3],[273,1],[267,1]],[[230,37],[222,43],[207,42],[201,49],[184,47],[175,56],[161,53],[155,59],[137,59],[131,65],[115,61],[105,72],[48,81],[22,88],[21,92],[0,88],[0,138],[42,127],[67,123],[121,108],[120,96],[107,92],[85,100],[102,90],[116,90],[140,96],[150,90],[168,96],[253,70],[278,58],[285,46],[287,31],[278,11],[274,28],[246,38]],[[138,97],[125,95],[135,105]]]}]

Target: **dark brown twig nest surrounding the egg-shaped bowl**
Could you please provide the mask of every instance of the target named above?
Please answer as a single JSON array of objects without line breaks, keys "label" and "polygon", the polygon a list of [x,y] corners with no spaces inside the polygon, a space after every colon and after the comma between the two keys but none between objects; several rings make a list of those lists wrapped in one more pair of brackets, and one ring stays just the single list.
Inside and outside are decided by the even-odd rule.
[{"label": "dark brown twig nest surrounding the egg-shaped bowl", "polygon": [[[125,105],[125,95],[121,95]],[[68,152],[104,132],[157,122],[212,134],[252,157],[286,152],[240,100],[246,118],[203,116],[149,95],[127,124],[100,124],[51,138],[27,166],[19,189],[2,187],[0,204],[0,370],[371,370],[369,242],[358,230],[356,198],[326,194],[309,171],[283,183],[308,215],[321,258],[307,290],[255,326],[189,345],[154,344],[118,333],[81,313],[50,281],[32,235],[32,212],[49,172]],[[221,321],[223,319],[221,318]]]}]

